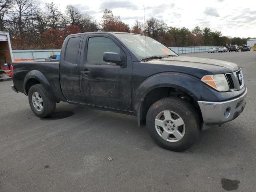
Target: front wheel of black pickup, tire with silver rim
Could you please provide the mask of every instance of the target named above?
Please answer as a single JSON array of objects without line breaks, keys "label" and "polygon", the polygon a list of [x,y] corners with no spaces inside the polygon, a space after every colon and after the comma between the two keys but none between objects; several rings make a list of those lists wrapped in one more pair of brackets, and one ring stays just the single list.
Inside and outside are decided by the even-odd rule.
[{"label": "front wheel of black pickup, tire with silver rim", "polygon": [[[173,116],[170,115],[170,118],[166,120],[164,114]],[[155,123],[163,124],[163,127]],[[182,125],[175,127],[175,124]],[[146,126],[151,138],[160,147],[172,151],[184,151],[192,146],[198,137],[201,118],[186,100],[174,97],[163,98],[149,108],[146,115]]]}]

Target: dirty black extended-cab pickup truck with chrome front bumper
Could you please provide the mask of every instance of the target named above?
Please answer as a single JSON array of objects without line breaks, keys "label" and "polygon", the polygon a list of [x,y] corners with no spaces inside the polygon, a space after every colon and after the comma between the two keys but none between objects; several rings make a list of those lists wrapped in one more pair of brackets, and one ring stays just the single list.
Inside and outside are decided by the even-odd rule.
[{"label": "dirty black extended-cab pickup truck with chrome front bumper", "polygon": [[131,114],[158,145],[174,151],[191,146],[200,130],[239,116],[247,94],[236,64],[178,56],[130,33],[73,34],[60,62],[12,65],[12,89],[28,96],[36,116],[50,116],[60,101]]}]

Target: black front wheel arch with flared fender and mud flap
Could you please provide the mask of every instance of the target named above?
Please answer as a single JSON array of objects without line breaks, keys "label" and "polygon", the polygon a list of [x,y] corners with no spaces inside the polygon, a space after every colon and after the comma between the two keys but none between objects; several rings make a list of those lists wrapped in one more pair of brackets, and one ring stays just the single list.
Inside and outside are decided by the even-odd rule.
[{"label": "black front wheel arch with flared fender and mud flap", "polygon": [[192,104],[198,114],[202,116],[197,104],[198,97],[193,94],[198,79],[187,74],[163,73],[146,79],[136,90],[134,110],[138,118],[138,125],[146,125],[146,114],[150,106],[165,97],[176,96],[184,98]]}]

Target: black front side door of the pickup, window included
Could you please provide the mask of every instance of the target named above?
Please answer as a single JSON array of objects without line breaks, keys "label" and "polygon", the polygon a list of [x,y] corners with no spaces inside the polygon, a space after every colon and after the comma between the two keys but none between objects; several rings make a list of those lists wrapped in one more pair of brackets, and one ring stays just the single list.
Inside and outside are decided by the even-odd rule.
[{"label": "black front side door of the pickup, window included", "polygon": [[[95,106],[130,110],[132,92],[131,57],[110,35],[88,34],[80,62],[82,102]],[[123,65],[105,62],[104,52],[120,54]]]}]

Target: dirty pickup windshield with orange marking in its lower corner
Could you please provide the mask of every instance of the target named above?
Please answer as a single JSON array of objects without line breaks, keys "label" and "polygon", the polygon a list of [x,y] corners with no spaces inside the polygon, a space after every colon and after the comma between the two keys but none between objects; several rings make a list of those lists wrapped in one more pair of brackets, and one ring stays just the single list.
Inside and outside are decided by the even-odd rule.
[{"label": "dirty pickup windshield with orange marking in its lower corner", "polygon": [[[116,34],[118,38],[141,60],[146,58],[165,58],[169,56],[178,56],[168,47],[160,42],[146,36],[136,34]],[[147,49],[147,56],[146,56]]]}]

